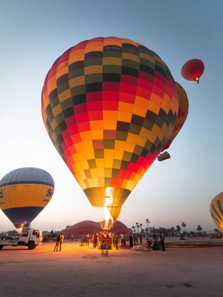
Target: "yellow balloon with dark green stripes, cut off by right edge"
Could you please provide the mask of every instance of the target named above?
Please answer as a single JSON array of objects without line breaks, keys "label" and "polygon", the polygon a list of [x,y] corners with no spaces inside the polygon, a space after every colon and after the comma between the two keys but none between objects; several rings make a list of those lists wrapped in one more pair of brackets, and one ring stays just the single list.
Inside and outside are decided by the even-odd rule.
[{"label": "yellow balloon with dark green stripes, cut off by right edge", "polygon": [[212,199],[210,213],[215,224],[223,231],[223,193],[219,193]]}]

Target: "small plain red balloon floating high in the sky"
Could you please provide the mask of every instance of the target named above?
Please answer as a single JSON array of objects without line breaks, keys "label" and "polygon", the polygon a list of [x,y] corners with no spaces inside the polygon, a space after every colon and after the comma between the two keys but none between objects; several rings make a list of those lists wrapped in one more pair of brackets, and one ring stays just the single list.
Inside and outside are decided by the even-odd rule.
[{"label": "small plain red balloon floating high in the sky", "polygon": [[181,75],[187,81],[197,81],[199,84],[199,79],[205,70],[204,63],[199,59],[192,59],[187,61],[181,68]]}]

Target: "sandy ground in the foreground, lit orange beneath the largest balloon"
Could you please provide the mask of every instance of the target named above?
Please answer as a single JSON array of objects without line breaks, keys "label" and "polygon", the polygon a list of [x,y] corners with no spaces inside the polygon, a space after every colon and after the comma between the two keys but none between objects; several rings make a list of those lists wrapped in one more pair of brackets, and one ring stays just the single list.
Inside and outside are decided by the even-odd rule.
[{"label": "sandy ground in the foreground, lit orange beneath the largest balloon", "polygon": [[166,252],[112,249],[104,256],[92,244],[79,244],[65,241],[60,252],[53,252],[52,242],[33,250],[4,247],[0,296],[223,296],[223,247],[167,248]]}]

